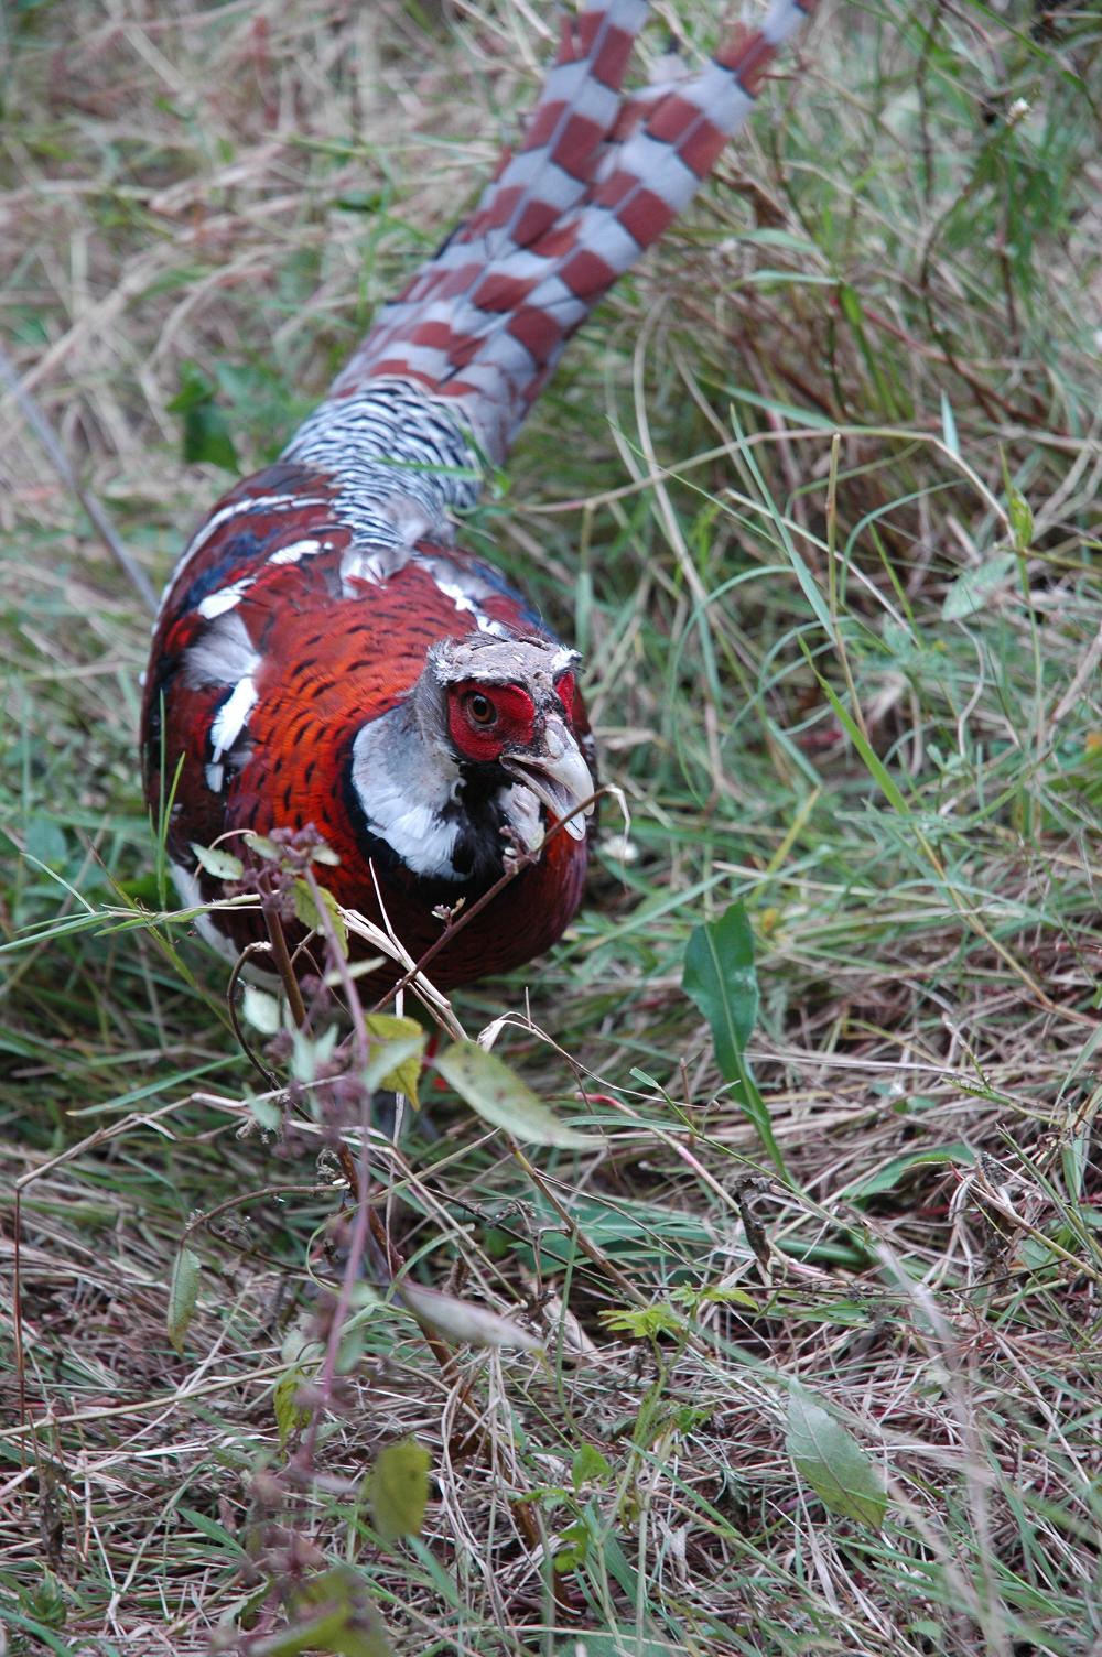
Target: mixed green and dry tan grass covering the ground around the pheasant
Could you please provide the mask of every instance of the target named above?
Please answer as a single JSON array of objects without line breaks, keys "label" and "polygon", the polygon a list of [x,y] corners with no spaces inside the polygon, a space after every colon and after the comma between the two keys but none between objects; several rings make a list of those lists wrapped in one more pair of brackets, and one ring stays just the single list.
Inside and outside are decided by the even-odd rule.
[{"label": "mixed green and dry tan grass covering the ground around the pheasant", "polygon": [[[154,583],[229,476],[186,442],[272,456],[530,99],[544,8],[456,13],[0,25],[0,330]],[[313,1584],[333,1652],[1097,1654],[1100,38],[827,8],[467,525],[583,648],[630,830],[454,1014],[600,1143],[426,1082],[373,1155],[413,1278],[545,1359],[441,1369],[355,1284],[326,1390],[333,1135],[260,1125],[157,888],[147,618],[3,403],[10,1650],[300,1650]],[[734,903],[784,1175],[681,989]]]}]

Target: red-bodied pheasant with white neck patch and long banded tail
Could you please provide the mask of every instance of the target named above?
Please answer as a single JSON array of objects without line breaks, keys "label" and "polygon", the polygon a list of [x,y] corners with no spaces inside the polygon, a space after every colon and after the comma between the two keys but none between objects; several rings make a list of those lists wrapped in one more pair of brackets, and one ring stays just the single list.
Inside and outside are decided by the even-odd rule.
[{"label": "red-bodied pheasant with white neck patch and long banded tail", "polygon": [[[313,832],[335,898],[452,988],[524,964],[573,918],[595,761],[578,656],[452,514],[500,466],[567,340],[665,232],[814,0],[774,0],[698,75],[623,94],[645,0],[590,0],[522,146],[386,305],[280,459],[192,537],[154,628],[146,792],[187,905],[222,895],[196,847]],[[224,953],[257,910],[201,931]],[[398,968],[378,969],[393,983]]]}]

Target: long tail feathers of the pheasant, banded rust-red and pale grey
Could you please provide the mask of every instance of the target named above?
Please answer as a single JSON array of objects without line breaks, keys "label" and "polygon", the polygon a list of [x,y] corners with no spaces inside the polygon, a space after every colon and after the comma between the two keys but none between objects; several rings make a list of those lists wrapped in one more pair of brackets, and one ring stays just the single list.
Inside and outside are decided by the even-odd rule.
[{"label": "long tail feathers of the pheasant, banded rust-red and pale grey", "polygon": [[563,17],[520,149],[471,219],[388,305],[333,384],[413,381],[500,462],[567,340],[679,214],[815,0],[774,0],[696,75],[623,94],[646,0]]}]

